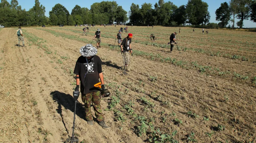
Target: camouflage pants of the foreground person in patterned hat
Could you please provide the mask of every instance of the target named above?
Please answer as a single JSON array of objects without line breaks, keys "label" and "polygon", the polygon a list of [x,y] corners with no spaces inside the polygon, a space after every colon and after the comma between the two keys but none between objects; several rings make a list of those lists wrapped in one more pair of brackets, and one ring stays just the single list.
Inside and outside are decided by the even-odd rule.
[{"label": "camouflage pants of the foreground person in patterned hat", "polygon": [[90,92],[87,94],[82,94],[82,101],[85,103],[85,119],[93,120],[92,112],[91,112],[91,102],[93,103],[93,109],[95,112],[95,116],[98,121],[104,120],[104,114],[102,113],[101,105],[100,105],[100,91]]}]

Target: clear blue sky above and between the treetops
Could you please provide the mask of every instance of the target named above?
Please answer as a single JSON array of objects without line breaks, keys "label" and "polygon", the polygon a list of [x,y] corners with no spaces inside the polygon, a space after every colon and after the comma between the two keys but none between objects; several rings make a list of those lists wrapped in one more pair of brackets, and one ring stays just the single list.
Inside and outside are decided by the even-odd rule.
[{"label": "clear blue sky above and between the treetops", "polygon": [[[7,0],[8,2],[11,2],[11,0]],[[229,1],[225,1],[225,0],[203,0],[204,2],[207,2],[209,7],[208,7],[208,11],[210,12],[210,22],[215,22],[215,23],[219,23],[218,21],[215,20],[215,10],[217,8],[219,8],[220,3],[223,2],[229,2]],[[35,0],[18,0],[19,5],[21,5],[22,9],[26,9],[29,10],[30,8],[32,8],[35,4]],[[39,0],[39,2],[45,6],[46,8],[46,13],[45,15],[49,17],[49,11],[52,10],[52,7],[57,4],[60,3],[63,6],[65,6],[67,8],[67,10],[69,11],[69,13],[71,13],[72,9],[74,8],[75,5],[79,5],[81,7],[87,7],[88,9],[90,9],[91,5],[94,2],[101,2],[100,0]],[[130,6],[132,3],[138,4],[140,7],[143,3],[151,3],[152,6],[154,6],[154,4],[156,2],[158,2],[158,0],[116,0],[117,4],[119,6],[122,6],[124,10],[126,10],[127,12],[130,10]],[[167,0],[165,0],[165,2],[167,2]],[[181,5],[186,5],[188,3],[188,0],[171,0],[171,2],[173,2],[176,6],[181,6]],[[236,22],[238,20],[235,19],[235,26],[236,26]],[[230,25],[232,26],[232,23],[230,23]],[[256,23],[250,21],[250,20],[245,20],[244,21],[244,27],[256,27]]]}]

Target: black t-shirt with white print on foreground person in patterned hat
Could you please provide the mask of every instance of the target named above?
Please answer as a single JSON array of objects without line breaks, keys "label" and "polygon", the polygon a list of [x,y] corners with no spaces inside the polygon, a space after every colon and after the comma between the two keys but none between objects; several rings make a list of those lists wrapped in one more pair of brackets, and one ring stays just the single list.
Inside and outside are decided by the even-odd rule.
[{"label": "black t-shirt with white print on foreground person in patterned hat", "polygon": [[[87,94],[90,92],[99,91],[99,89],[94,87],[94,85],[99,82],[99,73],[102,73],[101,66],[102,61],[100,57],[96,55],[94,55],[91,59],[88,60],[88,64],[86,62],[86,58],[83,56],[80,56],[77,59],[74,74],[79,75],[81,81],[81,93]],[[85,75],[86,72],[87,74]]]}]

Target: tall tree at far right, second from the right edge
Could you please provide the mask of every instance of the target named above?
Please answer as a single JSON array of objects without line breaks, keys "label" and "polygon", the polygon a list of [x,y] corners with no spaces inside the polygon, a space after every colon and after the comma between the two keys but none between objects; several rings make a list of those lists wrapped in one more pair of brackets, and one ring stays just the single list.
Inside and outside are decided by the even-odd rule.
[{"label": "tall tree at far right, second from the right edge", "polygon": [[241,19],[240,22],[237,22],[237,26],[240,28],[243,27],[244,20],[248,20],[250,17],[249,13],[249,6],[250,6],[250,0],[239,0],[238,3],[238,12],[237,12],[237,18]]}]

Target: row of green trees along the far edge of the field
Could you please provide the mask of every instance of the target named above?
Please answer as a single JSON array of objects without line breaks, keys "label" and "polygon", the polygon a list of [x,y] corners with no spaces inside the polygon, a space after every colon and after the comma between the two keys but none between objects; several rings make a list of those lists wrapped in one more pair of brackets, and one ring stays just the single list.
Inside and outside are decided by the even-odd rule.
[{"label": "row of green trees along the far edge of the field", "polygon": [[[217,23],[209,23],[210,13],[208,4],[202,0],[188,0],[186,5],[176,6],[172,2],[159,0],[154,6],[151,3],[144,3],[141,7],[132,3],[127,13],[122,6],[115,1],[95,2],[90,9],[76,5],[71,14],[61,4],[56,4],[45,16],[45,7],[39,0],[35,5],[26,11],[22,9],[17,0],[1,0],[0,3],[0,24],[4,26],[40,26],[40,25],[74,25],[74,24],[107,24],[127,22],[133,25],[162,25],[162,26],[185,26],[185,25],[206,25],[212,28],[227,27],[232,21],[234,28],[235,18],[239,21],[236,25],[242,28],[244,20],[250,18],[256,22],[255,0],[230,0],[221,3],[215,11]],[[127,16],[128,14],[128,16]]]}]

